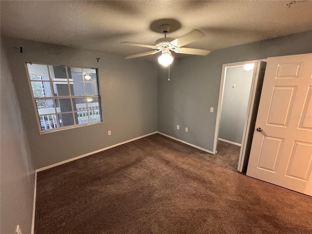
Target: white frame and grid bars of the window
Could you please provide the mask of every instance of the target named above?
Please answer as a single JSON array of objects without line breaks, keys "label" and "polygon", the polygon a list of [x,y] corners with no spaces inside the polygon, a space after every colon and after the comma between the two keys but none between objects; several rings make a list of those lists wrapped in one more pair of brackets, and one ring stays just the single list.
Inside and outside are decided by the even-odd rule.
[{"label": "white frame and grid bars of the window", "polygon": [[[48,70],[48,74],[49,74],[49,80],[46,80],[46,82],[50,83],[52,97],[43,97],[43,98],[34,97],[34,92],[33,92],[33,88],[32,88],[31,82],[40,82],[40,81],[42,82],[43,80],[36,81],[36,80],[30,79],[27,64],[30,64],[30,65],[38,64],[38,65],[46,65],[47,66],[47,70]],[[69,96],[55,96],[55,94],[53,92],[53,90],[54,90],[53,89],[53,83],[57,82],[58,80],[51,78],[49,66],[62,66],[62,67],[65,68],[65,70],[66,70],[66,77],[67,77],[67,84],[68,84],[68,90],[69,90]],[[68,69],[67,69],[68,67],[70,67],[70,68],[78,68],[78,69],[81,69],[81,71],[83,71],[83,69],[94,69],[96,71],[96,78],[97,78],[96,83],[97,83],[98,95],[86,95],[86,94],[85,95],[79,95],[79,96],[71,95],[70,84],[74,83],[75,81],[73,81],[72,79],[69,79]],[[39,134],[40,135],[53,133],[53,132],[58,132],[58,131],[63,131],[63,130],[67,130],[67,129],[80,128],[80,127],[84,127],[84,126],[89,126],[89,125],[103,123],[103,112],[102,112],[101,97],[100,97],[98,68],[77,67],[77,66],[69,66],[69,65],[54,65],[54,64],[46,64],[46,63],[39,63],[39,62],[25,62],[25,68],[26,68],[26,72],[27,72],[27,79],[28,79],[28,84],[29,84],[31,96],[32,96],[32,99],[33,99],[34,109],[35,109],[35,112],[36,112],[36,118],[37,118],[37,123],[38,123],[38,128],[39,128]],[[76,82],[83,83],[84,86],[85,86],[85,83],[89,83],[89,82],[85,81],[84,78],[82,79],[82,81],[76,81]],[[86,110],[78,110],[80,108],[76,107],[77,110],[75,111],[74,105],[73,105],[73,98],[86,98],[86,99],[87,98],[98,98],[98,108],[97,109],[92,109],[92,107],[89,108],[88,101],[86,101]],[[37,108],[36,100],[47,100],[47,99],[52,99],[53,100],[53,106],[54,106],[53,109],[55,109],[54,113],[39,114],[39,110]],[[57,107],[57,105],[56,105],[56,99],[70,99],[71,100],[72,111],[60,112],[58,110],[60,107]],[[92,110],[98,110],[100,120],[90,122],[90,111],[92,111]],[[78,112],[82,112],[82,111],[85,111],[87,113],[88,122],[79,124],[79,123],[76,122],[75,113],[77,113],[78,117],[80,118],[80,114],[78,114]],[[42,130],[41,122],[40,122],[40,117],[41,116],[44,117],[44,116],[54,115],[56,117],[56,119],[57,119],[57,125],[59,125],[59,123],[60,123],[59,115],[70,114],[70,113],[73,115],[74,125],[62,126],[62,127],[58,126],[56,128]],[[93,118],[93,114],[92,114],[92,118]],[[52,119],[52,121],[53,121],[53,119]]]}]

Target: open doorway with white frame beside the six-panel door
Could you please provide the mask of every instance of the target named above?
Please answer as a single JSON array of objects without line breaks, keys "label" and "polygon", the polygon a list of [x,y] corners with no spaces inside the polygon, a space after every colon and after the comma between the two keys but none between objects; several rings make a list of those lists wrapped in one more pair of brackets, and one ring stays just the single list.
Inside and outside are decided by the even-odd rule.
[{"label": "open doorway with white frame beside the six-panel door", "polygon": [[254,127],[265,64],[263,60],[253,60],[222,67],[214,153],[217,153],[218,145],[240,147],[237,154],[237,170],[240,172],[246,171],[248,163],[252,137],[249,132]]}]

